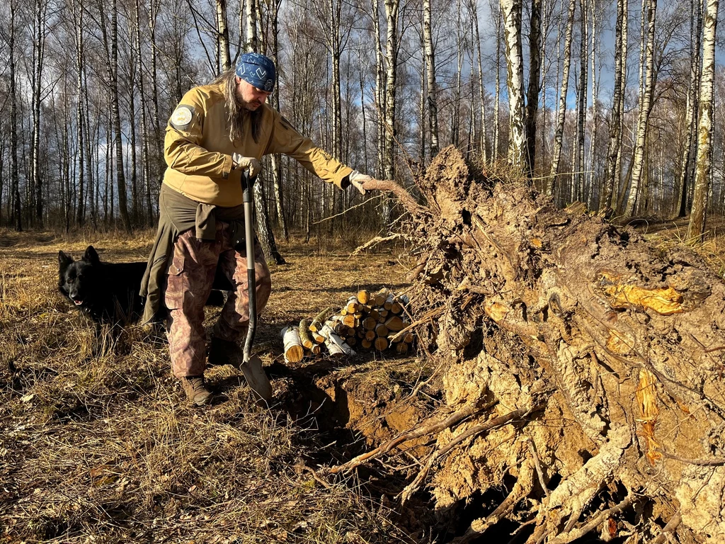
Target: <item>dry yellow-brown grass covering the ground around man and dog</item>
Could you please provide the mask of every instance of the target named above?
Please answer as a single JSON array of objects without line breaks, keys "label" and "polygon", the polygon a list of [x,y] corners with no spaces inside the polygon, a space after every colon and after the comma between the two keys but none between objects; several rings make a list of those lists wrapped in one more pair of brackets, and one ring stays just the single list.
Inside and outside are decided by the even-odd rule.
[{"label": "dry yellow-brown grass covering the ground around man and dog", "polygon": [[[0,231],[0,542],[414,541],[354,483],[315,479],[307,467],[324,448],[286,409],[304,395],[289,376],[272,372],[281,400],[267,410],[236,371],[212,368],[221,401],[196,409],[150,329],[95,349],[92,326],[57,294],[57,252],[94,244],[103,260],[144,260],[153,233],[104,236]],[[289,264],[273,267],[257,337],[265,363],[281,365],[281,325],[361,287],[402,287],[393,252],[352,249],[281,248]]]}]

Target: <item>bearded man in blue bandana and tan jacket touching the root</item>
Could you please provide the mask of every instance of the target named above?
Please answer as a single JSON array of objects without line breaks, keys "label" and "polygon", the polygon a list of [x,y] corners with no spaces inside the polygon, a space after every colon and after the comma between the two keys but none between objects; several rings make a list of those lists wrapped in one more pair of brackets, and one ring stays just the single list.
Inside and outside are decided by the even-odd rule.
[{"label": "bearded man in blue bandana and tan jacket touching the root", "polygon": [[[242,171],[257,176],[262,155],[283,153],[340,189],[352,184],[365,194],[363,184],[370,180],[334,160],[265,104],[275,79],[271,59],[244,54],[235,70],[188,91],[166,128],[168,168],[159,192],[159,228],[141,295],[146,297],[144,322],[152,321],[162,307],[168,310],[173,374],[196,405],[212,400],[204,382],[207,350],[202,322],[218,265],[233,289],[214,326],[209,362],[240,368],[257,395],[265,400],[271,396],[261,363],[242,364],[240,342],[249,323]],[[261,311],[270,295],[270,271],[256,240],[254,248],[257,310]]]}]

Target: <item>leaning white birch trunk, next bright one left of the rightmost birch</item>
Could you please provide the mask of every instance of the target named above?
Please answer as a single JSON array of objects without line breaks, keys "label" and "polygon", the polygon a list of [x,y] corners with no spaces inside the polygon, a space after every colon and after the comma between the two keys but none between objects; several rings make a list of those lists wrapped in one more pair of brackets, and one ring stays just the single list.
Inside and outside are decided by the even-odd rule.
[{"label": "leaning white birch trunk, next bright one left of the rightmost birch", "polygon": [[[650,120],[652,93],[654,88],[654,62],[655,62],[655,21],[657,15],[657,0],[647,0],[647,46],[645,50],[645,85],[642,99],[639,102],[639,122],[637,123],[637,143],[632,157],[632,177],[629,188],[629,197],[624,209],[624,215],[631,217],[637,209],[639,198],[639,184],[642,181],[642,170],[645,166],[645,144],[647,144],[647,126]],[[642,15],[644,17],[644,14]]]}]

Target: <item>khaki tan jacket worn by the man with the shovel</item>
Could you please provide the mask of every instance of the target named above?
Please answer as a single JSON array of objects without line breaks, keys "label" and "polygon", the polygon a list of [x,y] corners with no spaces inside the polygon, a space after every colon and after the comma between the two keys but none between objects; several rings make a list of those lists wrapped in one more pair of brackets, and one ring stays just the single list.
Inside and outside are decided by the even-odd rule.
[{"label": "khaki tan jacket worn by the man with the shovel", "polygon": [[166,127],[164,158],[168,168],[164,184],[197,202],[222,207],[241,204],[241,171],[232,170],[232,153],[243,157],[282,153],[340,189],[349,185],[352,172],[341,162],[304,138],[283,116],[262,106],[259,141],[252,138],[249,116],[244,136],[230,141],[222,85],[192,88],[181,99]]}]

